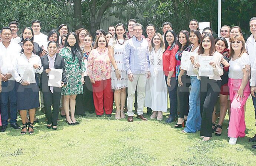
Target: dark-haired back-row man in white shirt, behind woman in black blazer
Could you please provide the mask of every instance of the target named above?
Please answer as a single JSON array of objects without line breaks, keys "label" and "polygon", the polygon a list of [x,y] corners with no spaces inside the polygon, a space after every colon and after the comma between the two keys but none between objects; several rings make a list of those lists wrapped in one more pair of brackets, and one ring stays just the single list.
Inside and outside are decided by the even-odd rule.
[{"label": "dark-haired back-row man in white shirt, behind woman in black blazer", "polygon": [[[42,29],[42,23],[38,20],[32,21],[32,27],[34,32],[34,42],[36,42],[39,46],[42,46],[47,41],[47,35],[42,34],[40,30]],[[46,49],[46,48],[44,48]]]}]

